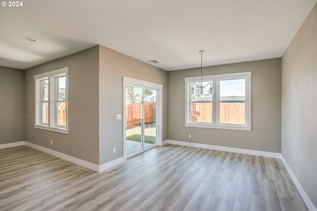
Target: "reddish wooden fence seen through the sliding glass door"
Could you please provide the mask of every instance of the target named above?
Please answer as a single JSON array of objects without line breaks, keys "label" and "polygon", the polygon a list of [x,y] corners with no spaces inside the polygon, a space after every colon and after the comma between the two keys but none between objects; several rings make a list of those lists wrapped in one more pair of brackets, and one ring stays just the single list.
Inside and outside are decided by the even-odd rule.
[{"label": "reddish wooden fence seen through the sliding glass door", "polygon": [[[151,123],[155,120],[155,103],[152,102],[146,102],[144,104],[144,117],[145,117],[145,123]],[[126,104],[126,110],[125,110],[125,116],[127,119],[127,125],[134,126],[141,124],[141,119],[143,118],[143,104],[142,103],[127,103]]]}]

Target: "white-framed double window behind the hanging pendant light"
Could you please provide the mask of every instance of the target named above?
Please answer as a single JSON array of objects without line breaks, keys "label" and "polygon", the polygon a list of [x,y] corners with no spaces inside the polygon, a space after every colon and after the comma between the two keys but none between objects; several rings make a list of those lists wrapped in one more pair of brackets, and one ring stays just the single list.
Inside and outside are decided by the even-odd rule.
[{"label": "white-framed double window behind the hanging pendant light", "polygon": [[185,78],[185,126],[251,130],[251,72]]}]

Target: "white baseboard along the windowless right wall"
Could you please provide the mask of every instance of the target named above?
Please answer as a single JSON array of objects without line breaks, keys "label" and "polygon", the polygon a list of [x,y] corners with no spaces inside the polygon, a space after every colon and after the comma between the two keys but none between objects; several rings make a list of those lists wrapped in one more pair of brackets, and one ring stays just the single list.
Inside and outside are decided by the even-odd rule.
[{"label": "white baseboard along the windowless right wall", "polygon": [[281,160],[287,170],[287,172],[289,173],[289,175],[291,176],[299,194],[301,195],[301,197],[303,198],[308,210],[310,211],[317,211],[316,207],[314,206],[313,202],[311,201],[311,199],[308,197],[307,193],[305,192],[304,188],[302,187],[301,183],[298,181],[298,179],[296,178],[294,172],[292,171],[292,169],[290,168],[290,166],[288,165],[288,163],[286,162],[286,160],[284,159],[284,157],[281,155]]}]

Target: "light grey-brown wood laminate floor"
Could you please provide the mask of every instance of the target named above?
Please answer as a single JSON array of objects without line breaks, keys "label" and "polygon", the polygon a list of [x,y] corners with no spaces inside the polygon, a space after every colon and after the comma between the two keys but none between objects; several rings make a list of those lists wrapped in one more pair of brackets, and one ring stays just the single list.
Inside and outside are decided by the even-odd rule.
[{"label": "light grey-brown wood laminate floor", "polygon": [[0,210],[307,211],[279,159],[177,145],[102,173],[39,150],[0,149]]}]

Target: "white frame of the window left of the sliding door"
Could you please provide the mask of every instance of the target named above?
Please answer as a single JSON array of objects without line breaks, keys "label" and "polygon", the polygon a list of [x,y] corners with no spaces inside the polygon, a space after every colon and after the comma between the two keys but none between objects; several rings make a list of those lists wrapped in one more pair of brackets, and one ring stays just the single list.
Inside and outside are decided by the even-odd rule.
[{"label": "white frame of the window left of the sliding door", "polygon": [[[66,99],[59,100],[58,93],[58,79],[60,77],[65,77],[65,93]],[[49,124],[44,124],[42,115],[42,101],[44,95],[42,94],[42,81],[49,79]],[[54,70],[47,73],[42,73],[34,76],[35,81],[35,128],[46,129],[55,132],[61,132],[68,134],[68,67]],[[57,125],[57,103],[66,103],[66,114],[65,114],[65,126]]]}]

